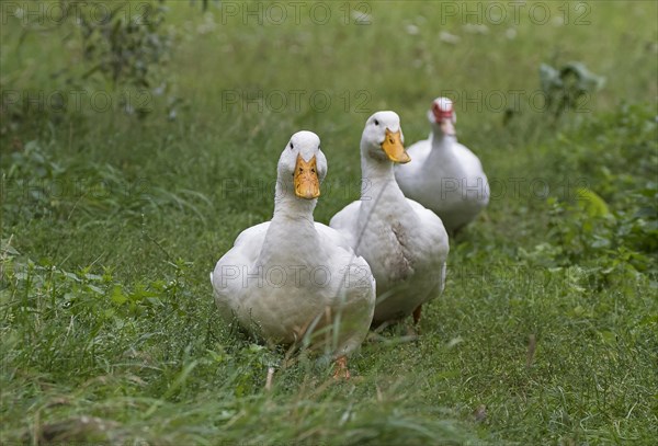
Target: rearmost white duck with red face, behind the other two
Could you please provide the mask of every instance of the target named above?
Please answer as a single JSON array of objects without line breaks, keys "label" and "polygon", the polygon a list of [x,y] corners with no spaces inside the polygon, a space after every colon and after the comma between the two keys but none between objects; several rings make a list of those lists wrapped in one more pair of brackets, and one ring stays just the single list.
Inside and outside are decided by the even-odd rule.
[{"label": "rearmost white duck with red face, behind the other two", "polygon": [[429,139],[409,147],[411,162],[397,165],[395,176],[406,196],[436,213],[454,233],[487,206],[489,183],[480,160],[457,142],[452,101],[435,99],[428,118]]}]

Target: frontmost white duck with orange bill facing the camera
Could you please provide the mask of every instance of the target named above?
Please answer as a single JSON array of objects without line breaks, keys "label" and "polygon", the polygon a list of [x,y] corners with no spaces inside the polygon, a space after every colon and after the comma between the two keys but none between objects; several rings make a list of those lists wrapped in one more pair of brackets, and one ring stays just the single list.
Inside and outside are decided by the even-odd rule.
[{"label": "frontmost white duck with orange bill facing the camera", "polygon": [[342,236],[314,222],[326,173],[318,136],[293,135],[279,159],[272,220],[242,231],[211,282],[226,321],[269,342],[324,347],[336,376],[349,378],[345,355],[367,334],[375,281]]}]

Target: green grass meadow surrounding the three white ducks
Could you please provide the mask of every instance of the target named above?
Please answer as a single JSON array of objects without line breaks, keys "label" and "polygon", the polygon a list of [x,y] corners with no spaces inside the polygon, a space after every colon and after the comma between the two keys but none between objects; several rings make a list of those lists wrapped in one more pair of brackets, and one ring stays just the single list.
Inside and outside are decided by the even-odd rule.
[{"label": "green grass meadow surrounding the three white ducks", "polygon": [[[188,2],[167,4],[170,87],[146,118],[3,110],[0,443],[655,442],[655,2],[590,2],[589,25],[522,14],[487,34],[458,16],[442,25],[438,2],[370,2],[363,26],[331,3],[325,25],[306,15],[263,27],[225,23],[216,5],[213,24]],[[544,4],[556,15],[561,3]],[[460,42],[443,43],[442,31]],[[21,44],[9,20],[0,33],[3,92],[68,91],[50,73],[83,71],[65,28]],[[523,103],[504,126],[487,105],[492,92],[535,92],[541,62],[570,60],[606,78],[587,111],[554,122]],[[84,87],[116,94],[95,78]],[[326,93],[331,106],[223,103],[227,92],[293,101],[293,90]],[[368,114],[397,111],[415,141],[441,90],[462,92],[461,140],[495,198],[451,241],[446,290],[427,306],[419,340],[405,327],[373,335],[351,359],[356,377],[334,382],[315,357],[224,327],[208,272],[240,230],[271,217],[290,135],[322,140],[316,220],[327,222],[359,196]],[[167,95],[182,101],[173,121]]]}]

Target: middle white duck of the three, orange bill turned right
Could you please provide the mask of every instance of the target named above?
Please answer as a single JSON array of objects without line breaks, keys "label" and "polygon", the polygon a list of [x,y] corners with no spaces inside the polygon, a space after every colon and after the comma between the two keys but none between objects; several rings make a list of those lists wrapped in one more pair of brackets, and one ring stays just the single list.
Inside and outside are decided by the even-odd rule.
[{"label": "middle white duck of the three, orange bill turned right", "polygon": [[361,201],[331,218],[377,281],[373,324],[395,322],[439,296],[445,282],[447,235],[441,219],[405,198],[393,173],[394,162],[408,162],[400,118],[377,112],[365,123],[361,138]]}]

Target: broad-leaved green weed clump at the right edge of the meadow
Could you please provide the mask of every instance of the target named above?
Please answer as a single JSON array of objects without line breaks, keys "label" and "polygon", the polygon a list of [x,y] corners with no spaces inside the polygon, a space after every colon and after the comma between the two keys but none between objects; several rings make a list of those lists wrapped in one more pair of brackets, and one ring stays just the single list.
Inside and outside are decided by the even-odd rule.
[{"label": "broad-leaved green weed clump at the right edge of the meadow", "polygon": [[626,277],[655,271],[657,131],[648,106],[622,106],[560,137],[564,150],[552,169],[579,172],[588,185],[559,190],[547,199],[547,241],[523,256],[554,266],[579,265],[599,279],[615,271]]}]

